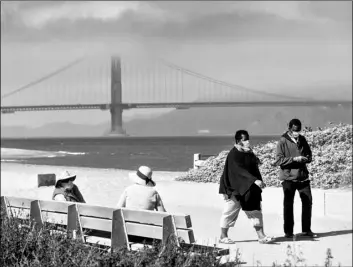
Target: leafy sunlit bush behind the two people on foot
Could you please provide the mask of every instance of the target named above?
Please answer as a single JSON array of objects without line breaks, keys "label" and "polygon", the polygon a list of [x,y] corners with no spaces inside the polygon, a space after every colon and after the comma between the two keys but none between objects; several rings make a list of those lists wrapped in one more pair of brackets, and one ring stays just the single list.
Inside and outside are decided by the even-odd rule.
[{"label": "leafy sunlit bush behind the two people on foot", "polygon": [[[352,185],[352,125],[331,125],[312,131],[306,127],[305,137],[313,152],[313,161],[308,164],[312,186],[337,188]],[[276,141],[257,145],[254,153],[260,158],[260,171],[268,186],[280,186],[278,168],[273,166],[276,157]],[[189,170],[177,177],[179,181],[218,183],[223,173],[224,162],[229,151],[222,151],[208,158],[203,167]]]}]

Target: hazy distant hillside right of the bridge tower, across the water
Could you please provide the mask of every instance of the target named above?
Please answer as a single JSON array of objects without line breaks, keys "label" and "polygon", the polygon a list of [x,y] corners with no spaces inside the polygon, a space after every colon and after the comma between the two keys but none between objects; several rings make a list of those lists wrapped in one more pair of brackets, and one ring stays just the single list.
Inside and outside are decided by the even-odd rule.
[{"label": "hazy distant hillside right of the bridge tower, across the water", "polygon": [[278,134],[290,119],[298,117],[316,128],[328,122],[352,123],[352,108],[195,108],[172,111],[153,120],[133,120],[125,124],[131,135],[196,135],[208,130],[212,135],[234,133],[237,129],[252,134]]}]

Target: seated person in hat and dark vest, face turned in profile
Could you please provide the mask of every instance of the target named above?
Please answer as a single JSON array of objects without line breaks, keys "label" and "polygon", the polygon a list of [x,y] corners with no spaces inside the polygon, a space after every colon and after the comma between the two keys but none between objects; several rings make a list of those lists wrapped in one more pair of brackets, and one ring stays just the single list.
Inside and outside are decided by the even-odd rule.
[{"label": "seated person in hat and dark vest, face turned in profile", "polygon": [[52,199],[57,201],[70,201],[86,203],[77,185],[73,182],[76,175],[65,171],[55,183]]}]

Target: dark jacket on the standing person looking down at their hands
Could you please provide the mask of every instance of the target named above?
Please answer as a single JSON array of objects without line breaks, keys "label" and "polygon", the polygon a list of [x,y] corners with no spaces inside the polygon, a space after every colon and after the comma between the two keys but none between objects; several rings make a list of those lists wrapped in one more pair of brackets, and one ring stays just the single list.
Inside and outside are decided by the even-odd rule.
[{"label": "dark jacket on the standing person looking down at their hands", "polygon": [[[304,156],[308,158],[306,163],[293,161],[294,157]],[[275,165],[280,167],[280,180],[302,181],[309,178],[307,163],[312,161],[312,152],[305,137],[299,135],[298,142],[295,143],[288,132],[281,136],[277,143]]]}]

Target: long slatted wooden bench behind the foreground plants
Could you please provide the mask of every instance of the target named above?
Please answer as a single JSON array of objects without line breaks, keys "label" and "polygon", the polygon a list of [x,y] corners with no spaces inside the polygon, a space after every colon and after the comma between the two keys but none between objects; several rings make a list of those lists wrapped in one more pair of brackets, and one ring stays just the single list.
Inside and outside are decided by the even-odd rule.
[{"label": "long slatted wooden bench behind the foreground plants", "polygon": [[70,235],[86,243],[112,249],[130,250],[133,244],[150,244],[153,240],[166,244],[170,236],[175,236],[183,240],[177,242],[182,247],[229,254],[228,249],[196,245],[191,218],[185,214],[6,196],[1,197],[1,205],[8,216],[34,220],[38,227],[49,222],[64,227]]}]

